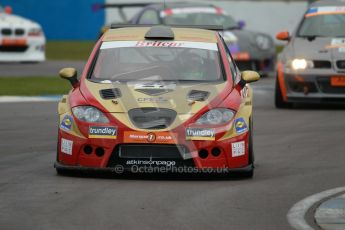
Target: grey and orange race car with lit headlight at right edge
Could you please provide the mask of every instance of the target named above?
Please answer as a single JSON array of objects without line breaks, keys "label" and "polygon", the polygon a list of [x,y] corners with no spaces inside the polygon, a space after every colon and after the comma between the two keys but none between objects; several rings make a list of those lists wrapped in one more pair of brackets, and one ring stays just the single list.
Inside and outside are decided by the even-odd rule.
[{"label": "grey and orange race car with lit headlight at right edge", "polygon": [[278,57],[276,107],[297,102],[345,104],[345,3],[310,5]]}]

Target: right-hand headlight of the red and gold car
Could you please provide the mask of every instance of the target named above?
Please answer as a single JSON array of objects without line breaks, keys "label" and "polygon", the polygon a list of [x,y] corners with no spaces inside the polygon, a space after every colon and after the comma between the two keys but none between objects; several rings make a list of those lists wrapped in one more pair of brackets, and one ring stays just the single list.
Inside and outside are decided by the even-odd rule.
[{"label": "right-hand headlight of the red and gold car", "polygon": [[202,115],[197,121],[197,125],[219,125],[229,122],[235,115],[230,109],[212,109]]}]

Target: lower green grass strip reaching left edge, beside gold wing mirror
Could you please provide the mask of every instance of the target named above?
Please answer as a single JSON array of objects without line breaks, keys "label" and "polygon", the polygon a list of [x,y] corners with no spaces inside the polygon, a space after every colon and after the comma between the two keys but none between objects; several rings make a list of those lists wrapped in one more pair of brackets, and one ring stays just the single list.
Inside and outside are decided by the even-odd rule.
[{"label": "lower green grass strip reaching left edge, beside gold wing mirror", "polygon": [[71,89],[68,81],[58,77],[1,77],[0,96],[60,95]]}]

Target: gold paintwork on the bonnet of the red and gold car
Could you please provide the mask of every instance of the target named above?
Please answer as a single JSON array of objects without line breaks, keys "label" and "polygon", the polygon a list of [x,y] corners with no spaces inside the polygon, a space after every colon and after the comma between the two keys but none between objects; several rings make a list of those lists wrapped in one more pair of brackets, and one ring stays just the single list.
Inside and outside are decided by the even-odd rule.
[{"label": "gold paintwork on the bonnet of the red and gold car", "polygon": [[[226,82],[210,85],[210,84],[199,84],[199,85],[177,85],[175,90],[159,96],[150,96],[134,89],[134,84],[128,83],[94,83],[91,81],[85,81],[86,87],[90,90],[92,95],[99,101],[112,115],[120,122],[124,123],[128,127],[134,130],[141,130],[136,128],[128,117],[127,112],[130,109],[141,108],[141,107],[155,107],[155,108],[168,108],[177,112],[177,117],[169,129],[171,130],[181,125],[190,119],[195,113],[207,106],[220,92],[226,87]],[[122,97],[117,99],[118,104],[114,105],[112,100],[104,100],[101,98],[99,91],[102,89],[118,88],[122,93]],[[210,92],[210,95],[206,101],[200,102],[195,101],[194,104],[190,104],[187,100],[187,95],[192,89],[203,90]],[[165,98],[166,102],[147,102],[139,103],[138,98]],[[158,131],[158,130],[157,130]]]}]

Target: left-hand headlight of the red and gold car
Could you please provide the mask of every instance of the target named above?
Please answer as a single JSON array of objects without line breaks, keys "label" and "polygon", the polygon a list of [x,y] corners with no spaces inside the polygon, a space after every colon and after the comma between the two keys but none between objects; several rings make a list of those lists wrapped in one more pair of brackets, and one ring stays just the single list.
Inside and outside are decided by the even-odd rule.
[{"label": "left-hand headlight of the red and gold car", "polygon": [[109,123],[108,118],[98,109],[92,106],[77,106],[72,108],[76,118],[89,123]]}]

